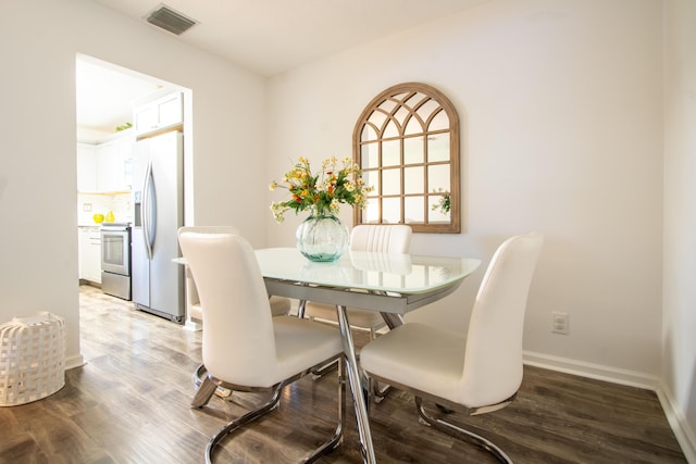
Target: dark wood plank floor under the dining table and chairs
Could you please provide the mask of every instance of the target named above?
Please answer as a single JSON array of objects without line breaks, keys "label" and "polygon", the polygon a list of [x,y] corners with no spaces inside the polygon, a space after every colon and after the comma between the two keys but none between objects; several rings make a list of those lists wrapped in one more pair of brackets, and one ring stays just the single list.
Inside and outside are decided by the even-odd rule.
[{"label": "dark wood plank floor under the dining table and chairs", "polygon": [[[259,397],[213,397],[189,407],[200,333],[80,290],[84,367],[29,404],[0,407],[1,463],[199,463],[208,438]],[[293,463],[331,435],[337,380],[304,378],[281,407],[223,442],[216,462]],[[322,463],[360,463],[352,405],[344,443]],[[419,424],[412,398],[373,405],[381,463],[486,463],[486,453]],[[460,425],[498,443],[515,463],[684,463],[651,391],[525,367],[517,401]]]}]

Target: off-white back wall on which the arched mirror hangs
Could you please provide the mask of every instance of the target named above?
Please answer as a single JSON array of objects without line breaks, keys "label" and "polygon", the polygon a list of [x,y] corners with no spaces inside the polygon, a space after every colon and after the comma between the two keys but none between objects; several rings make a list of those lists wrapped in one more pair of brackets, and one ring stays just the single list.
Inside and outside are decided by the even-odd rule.
[{"label": "off-white back wall on which the arched mirror hangs", "polygon": [[[524,348],[655,381],[661,352],[661,2],[495,0],[272,78],[269,180],[293,160],[351,154],[364,105],[401,81],[440,89],[462,120],[461,235],[414,252],[477,256],[546,236]],[[270,192],[269,201],[282,193]],[[351,223],[350,211],[341,217]],[[303,217],[274,225],[293,244]],[[483,267],[412,318],[464,327]],[[551,334],[551,312],[570,335]]]}]

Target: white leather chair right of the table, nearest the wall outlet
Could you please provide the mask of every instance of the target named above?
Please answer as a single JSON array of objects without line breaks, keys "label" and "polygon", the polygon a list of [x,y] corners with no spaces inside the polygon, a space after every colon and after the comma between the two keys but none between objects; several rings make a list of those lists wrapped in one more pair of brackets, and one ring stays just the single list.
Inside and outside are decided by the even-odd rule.
[{"label": "white leather chair right of the table, nearest the wall outlet", "polygon": [[469,415],[507,406],[522,383],[522,331],[527,293],[544,239],[506,240],[494,254],[474,302],[468,333],[420,323],[391,329],[363,347],[360,364],[370,379],[415,396],[422,419],[444,432],[510,459],[489,440],[435,418],[423,400]]}]

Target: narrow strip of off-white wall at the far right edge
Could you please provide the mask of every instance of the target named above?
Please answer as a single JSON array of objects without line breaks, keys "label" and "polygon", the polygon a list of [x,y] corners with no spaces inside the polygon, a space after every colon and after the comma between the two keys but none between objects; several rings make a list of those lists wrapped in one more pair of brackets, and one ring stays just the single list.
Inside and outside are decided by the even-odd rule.
[{"label": "narrow strip of off-white wall at the far right edge", "polygon": [[696,2],[664,5],[662,377],[696,462]]}]

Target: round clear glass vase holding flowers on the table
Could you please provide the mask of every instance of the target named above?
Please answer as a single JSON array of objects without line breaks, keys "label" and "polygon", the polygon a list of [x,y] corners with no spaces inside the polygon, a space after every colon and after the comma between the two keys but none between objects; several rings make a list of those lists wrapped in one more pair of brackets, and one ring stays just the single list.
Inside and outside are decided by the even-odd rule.
[{"label": "round clear glass vase holding flowers on the table", "polygon": [[336,261],[348,249],[350,236],[333,214],[312,213],[297,228],[297,249],[311,261]]}]

